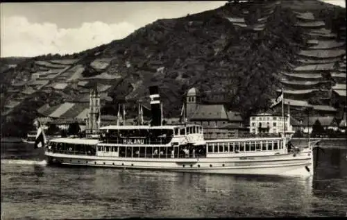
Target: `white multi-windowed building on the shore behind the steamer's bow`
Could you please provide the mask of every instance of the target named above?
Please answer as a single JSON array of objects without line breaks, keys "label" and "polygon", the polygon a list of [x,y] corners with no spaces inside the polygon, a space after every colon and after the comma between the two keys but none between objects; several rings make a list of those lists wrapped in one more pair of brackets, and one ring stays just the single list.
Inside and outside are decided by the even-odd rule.
[{"label": "white multi-windowed building on the shore behind the steamer's bow", "polygon": [[[285,128],[283,124],[285,124]],[[282,115],[260,113],[257,115],[251,115],[249,119],[249,133],[282,134],[284,129],[286,134],[294,133],[287,115],[285,115],[283,119]]]}]

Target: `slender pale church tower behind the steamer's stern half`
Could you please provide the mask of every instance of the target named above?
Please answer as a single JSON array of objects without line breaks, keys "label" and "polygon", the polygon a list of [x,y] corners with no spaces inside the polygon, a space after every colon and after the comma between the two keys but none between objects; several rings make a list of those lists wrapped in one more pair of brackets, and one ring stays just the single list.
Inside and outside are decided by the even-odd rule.
[{"label": "slender pale church tower behind the steamer's stern half", "polygon": [[97,87],[95,86],[90,91],[90,106],[87,123],[87,130],[89,130],[90,133],[96,133],[97,131],[99,131],[99,121],[101,117],[100,110],[100,94]]}]

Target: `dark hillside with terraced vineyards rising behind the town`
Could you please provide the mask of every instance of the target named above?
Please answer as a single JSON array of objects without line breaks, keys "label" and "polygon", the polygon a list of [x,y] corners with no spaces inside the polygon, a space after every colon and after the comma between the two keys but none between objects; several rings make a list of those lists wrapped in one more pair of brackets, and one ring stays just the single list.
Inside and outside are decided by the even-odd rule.
[{"label": "dark hillside with terraced vineyards rising behind the town", "polygon": [[2,71],[1,124],[13,133],[53,110],[60,117],[78,115],[95,83],[102,111],[111,115],[119,102],[129,117],[136,115],[135,102],[148,101],[153,84],[160,85],[165,117],[179,115],[183,94],[193,86],[203,101],[217,97],[244,119],[267,110],[282,87],[294,114],[307,106],[314,114],[338,114],[346,97],[340,85],[346,81],[345,30],[344,8],[319,1],[230,2],[160,19],[110,44],[39,56]]}]

